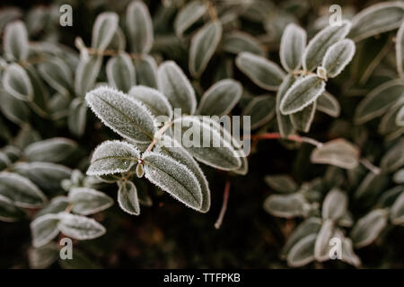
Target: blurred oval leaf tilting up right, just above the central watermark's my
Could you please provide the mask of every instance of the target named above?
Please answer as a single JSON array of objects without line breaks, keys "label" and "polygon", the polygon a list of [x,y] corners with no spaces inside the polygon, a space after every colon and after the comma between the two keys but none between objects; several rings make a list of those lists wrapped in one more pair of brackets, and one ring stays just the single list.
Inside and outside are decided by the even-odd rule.
[{"label": "blurred oval leaf tilting up right, just above the central watermark's my", "polygon": [[198,114],[222,117],[227,115],[241,98],[241,83],[232,79],[216,82],[203,94]]}]

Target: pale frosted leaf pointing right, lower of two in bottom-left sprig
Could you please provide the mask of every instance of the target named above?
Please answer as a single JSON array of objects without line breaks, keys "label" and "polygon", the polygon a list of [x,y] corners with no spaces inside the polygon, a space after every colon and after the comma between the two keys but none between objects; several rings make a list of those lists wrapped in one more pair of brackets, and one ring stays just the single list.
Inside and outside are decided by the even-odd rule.
[{"label": "pale frosted leaf pointing right, lower of two in bottom-left sprig", "polygon": [[105,228],[91,218],[70,213],[58,213],[57,228],[66,236],[77,240],[96,239],[105,234]]}]

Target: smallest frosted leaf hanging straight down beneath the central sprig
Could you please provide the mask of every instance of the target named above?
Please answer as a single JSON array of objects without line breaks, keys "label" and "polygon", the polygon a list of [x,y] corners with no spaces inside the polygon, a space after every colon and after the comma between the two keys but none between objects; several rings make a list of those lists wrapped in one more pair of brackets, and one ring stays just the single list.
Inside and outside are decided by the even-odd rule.
[{"label": "smallest frosted leaf hanging straight down beneath the central sprig", "polygon": [[132,181],[118,182],[118,203],[120,208],[132,215],[140,214],[139,199],[137,189]]}]

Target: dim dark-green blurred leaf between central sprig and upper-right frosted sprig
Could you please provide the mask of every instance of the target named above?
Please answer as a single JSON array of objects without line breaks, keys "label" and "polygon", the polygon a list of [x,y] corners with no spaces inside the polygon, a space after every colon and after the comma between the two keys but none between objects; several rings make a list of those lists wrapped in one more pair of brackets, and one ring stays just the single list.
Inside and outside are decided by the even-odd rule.
[{"label": "dim dark-green blurred leaf between central sprig and upper-right frosted sprig", "polygon": [[250,129],[267,124],[276,113],[276,99],[272,96],[262,95],[252,98],[242,116],[250,116]]}]

